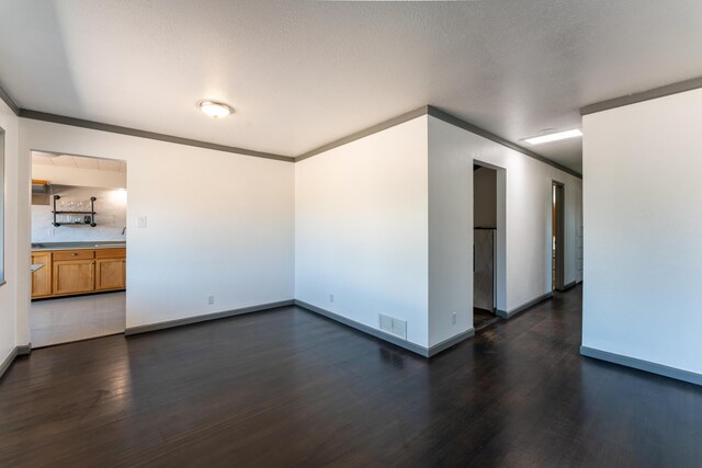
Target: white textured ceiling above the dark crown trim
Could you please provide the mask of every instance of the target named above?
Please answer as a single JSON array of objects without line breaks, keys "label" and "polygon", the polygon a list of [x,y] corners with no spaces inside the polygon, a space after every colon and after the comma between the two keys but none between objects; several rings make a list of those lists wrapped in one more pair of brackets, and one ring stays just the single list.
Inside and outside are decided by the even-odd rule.
[{"label": "white textured ceiling above the dark crown trim", "polygon": [[[431,104],[512,141],[702,75],[700,0],[0,0],[24,109],[296,156]],[[195,107],[222,100],[212,121]],[[580,141],[535,150],[576,171]]]}]

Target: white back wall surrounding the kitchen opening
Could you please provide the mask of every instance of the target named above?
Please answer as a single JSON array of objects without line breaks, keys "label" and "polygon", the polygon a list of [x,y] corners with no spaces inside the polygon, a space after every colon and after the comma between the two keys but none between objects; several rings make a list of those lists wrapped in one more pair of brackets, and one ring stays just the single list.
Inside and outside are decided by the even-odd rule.
[{"label": "white back wall surrounding the kitchen opening", "polygon": [[[127,161],[127,327],[294,297],[294,164],[46,122],[21,125],[18,251],[27,273],[18,333],[25,342],[32,149]],[[147,228],[136,227],[139,216]]]}]

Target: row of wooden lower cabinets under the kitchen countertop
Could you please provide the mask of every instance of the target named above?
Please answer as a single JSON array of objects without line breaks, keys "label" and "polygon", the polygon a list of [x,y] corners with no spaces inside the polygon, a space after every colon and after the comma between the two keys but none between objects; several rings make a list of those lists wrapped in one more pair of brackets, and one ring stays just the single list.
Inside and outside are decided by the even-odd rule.
[{"label": "row of wooden lower cabinets under the kitchen countertop", "polygon": [[32,263],[45,265],[32,273],[32,298],[124,289],[125,255],[125,249],[32,252]]}]

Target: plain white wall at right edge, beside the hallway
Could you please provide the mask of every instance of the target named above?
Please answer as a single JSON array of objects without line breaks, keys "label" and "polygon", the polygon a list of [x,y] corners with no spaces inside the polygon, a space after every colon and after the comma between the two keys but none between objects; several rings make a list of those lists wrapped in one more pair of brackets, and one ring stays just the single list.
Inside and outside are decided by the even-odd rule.
[{"label": "plain white wall at right edge, beside the hallway", "polygon": [[582,345],[702,374],[702,90],[584,117]]}]

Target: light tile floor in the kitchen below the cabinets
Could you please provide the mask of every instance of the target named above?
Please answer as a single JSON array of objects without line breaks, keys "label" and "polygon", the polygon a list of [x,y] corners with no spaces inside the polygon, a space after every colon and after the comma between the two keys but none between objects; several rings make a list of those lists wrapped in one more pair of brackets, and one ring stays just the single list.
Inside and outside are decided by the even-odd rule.
[{"label": "light tile floor in the kitchen below the cabinets", "polygon": [[126,293],[35,300],[30,311],[32,347],[122,333]]}]

